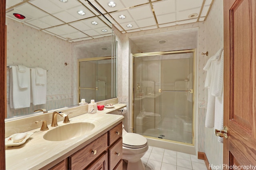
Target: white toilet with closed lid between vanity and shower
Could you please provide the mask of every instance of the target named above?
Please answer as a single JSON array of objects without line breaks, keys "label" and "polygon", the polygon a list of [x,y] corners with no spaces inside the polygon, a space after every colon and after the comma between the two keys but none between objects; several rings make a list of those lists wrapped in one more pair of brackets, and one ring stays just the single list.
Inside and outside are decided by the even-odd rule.
[{"label": "white toilet with closed lid between vanity and shower", "polygon": [[123,137],[123,158],[127,162],[127,170],[145,170],[140,158],[148,150],[148,142],[145,137],[136,133],[128,133],[124,129]]}]

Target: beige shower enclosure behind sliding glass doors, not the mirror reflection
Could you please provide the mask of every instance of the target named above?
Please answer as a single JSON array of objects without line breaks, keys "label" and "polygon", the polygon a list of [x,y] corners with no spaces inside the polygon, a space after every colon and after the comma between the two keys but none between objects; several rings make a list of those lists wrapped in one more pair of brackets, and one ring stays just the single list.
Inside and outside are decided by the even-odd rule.
[{"label": "beige shower enclosure behind sliding glass doors, not the mirror reflection", "polygon": [[194,144],[195,50],[133,54],[134,132]]}]

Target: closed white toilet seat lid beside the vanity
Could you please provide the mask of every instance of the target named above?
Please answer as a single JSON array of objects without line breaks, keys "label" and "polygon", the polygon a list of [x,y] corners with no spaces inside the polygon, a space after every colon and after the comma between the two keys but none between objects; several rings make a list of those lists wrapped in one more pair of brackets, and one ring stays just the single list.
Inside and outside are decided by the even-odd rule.
[{"label": "closed white toilet seat lid beside the vanity", "polygon": [[148,145],[147,139],[137,133],[126,133],[123,136],[123,146],[127,148],[143,148]]}]

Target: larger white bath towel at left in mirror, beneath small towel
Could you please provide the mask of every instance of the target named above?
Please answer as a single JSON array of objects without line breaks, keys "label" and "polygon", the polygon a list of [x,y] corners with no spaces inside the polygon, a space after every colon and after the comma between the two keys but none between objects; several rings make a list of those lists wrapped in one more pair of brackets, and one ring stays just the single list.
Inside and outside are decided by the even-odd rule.
[{"label": "larger white bath towel at left in mirror, beneath small towel", "polygon": [[17,67],[12,66],[10,70],[10,108],[21,109],[24,107],[30,107],[30,86],[19,88]]}]

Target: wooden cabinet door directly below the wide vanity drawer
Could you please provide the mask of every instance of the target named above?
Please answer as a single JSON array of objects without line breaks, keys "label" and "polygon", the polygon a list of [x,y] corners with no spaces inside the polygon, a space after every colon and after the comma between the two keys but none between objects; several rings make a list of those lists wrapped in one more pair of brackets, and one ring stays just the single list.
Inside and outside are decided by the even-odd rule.
[{"label": "wooden cabinet door directly below the wide vanity drawer", "polygon": [[86,170],[108,170],[108,152],[104,152],[94,163]]}]

